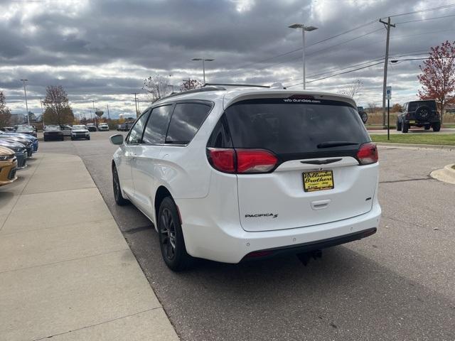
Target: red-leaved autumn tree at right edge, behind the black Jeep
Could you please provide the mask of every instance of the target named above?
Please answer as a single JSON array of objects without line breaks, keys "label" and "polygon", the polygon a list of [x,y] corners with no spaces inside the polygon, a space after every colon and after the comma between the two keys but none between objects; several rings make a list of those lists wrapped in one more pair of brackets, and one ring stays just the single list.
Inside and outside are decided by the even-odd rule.
[{"label": "red-leaved autumn tree at right edge, behind the black Jeep", "polygon": [[422,74],[418,75],[422,90],[420,99],[436,99],[442,115],[446,104],[455,102],[455,41],[431,48],[429,58],[419,65]]}]

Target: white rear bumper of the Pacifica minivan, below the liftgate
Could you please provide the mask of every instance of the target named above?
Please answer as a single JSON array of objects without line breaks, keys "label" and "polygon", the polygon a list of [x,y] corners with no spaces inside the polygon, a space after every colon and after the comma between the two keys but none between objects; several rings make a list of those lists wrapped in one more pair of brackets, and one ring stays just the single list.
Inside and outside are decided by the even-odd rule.
[{"label": "white rear bumper of the Pacifica minivan, below the liftgate", "polygon": [[[176,200],[176,204],[181,211],[186,211],[184,200]],[[185,219],[183,219],[182,229],[186,249],[191,256],[225,263],[238,263],[247,254],[255,251],[277,250],[277,253],[282,251],[298,253],[368,237],[376,232],[380,215],[380,205],[374,202],[372,210],[363,215],[295,229],[246,232],[240,227],[240,223],[238,228],[232,225],[203,226],[185,224]]]}]

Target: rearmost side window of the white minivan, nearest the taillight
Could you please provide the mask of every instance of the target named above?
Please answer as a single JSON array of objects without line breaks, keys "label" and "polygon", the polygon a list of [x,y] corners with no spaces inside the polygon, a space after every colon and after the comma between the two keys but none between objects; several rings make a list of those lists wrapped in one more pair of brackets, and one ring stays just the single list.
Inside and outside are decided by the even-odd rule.
[{"label": "rearmost side window of the white minivan, nearest the taillight", "polygon": [[210,105],[178,103],[173,110],[166,144],[189,144],[210,112]]}]

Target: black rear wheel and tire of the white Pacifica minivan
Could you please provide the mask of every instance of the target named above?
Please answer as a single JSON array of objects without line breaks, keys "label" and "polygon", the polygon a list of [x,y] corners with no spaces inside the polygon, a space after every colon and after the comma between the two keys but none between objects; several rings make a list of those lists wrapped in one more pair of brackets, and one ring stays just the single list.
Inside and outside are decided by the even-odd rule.
[{"label": "black rear wheel and tire of the white Pacifica minivan", "polygon": [[185,240],[176,204],[165,197],[158,213],[159,245],[163,260],[172,271],[183,271],[193,265],[193,257],[186,252]]}]

